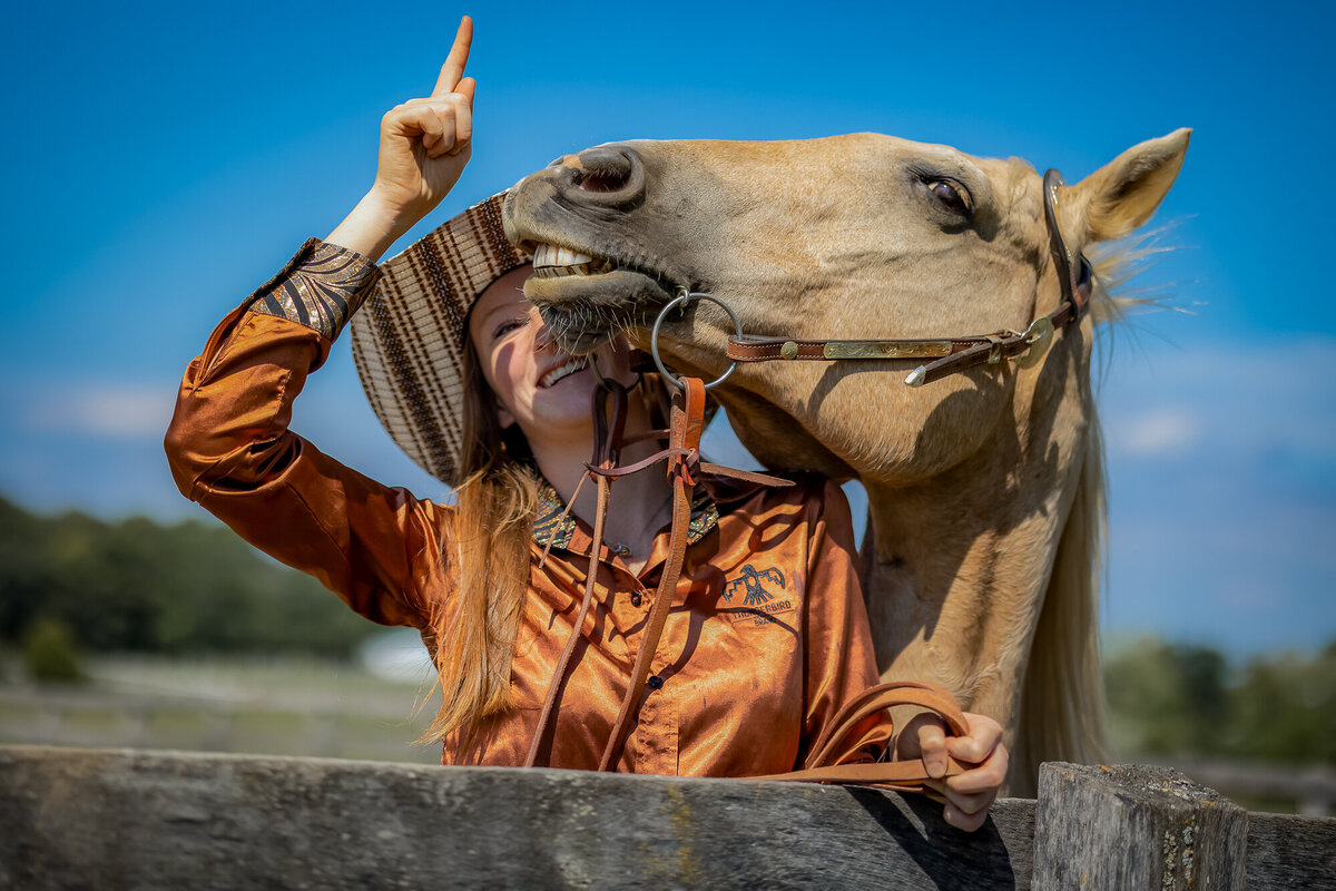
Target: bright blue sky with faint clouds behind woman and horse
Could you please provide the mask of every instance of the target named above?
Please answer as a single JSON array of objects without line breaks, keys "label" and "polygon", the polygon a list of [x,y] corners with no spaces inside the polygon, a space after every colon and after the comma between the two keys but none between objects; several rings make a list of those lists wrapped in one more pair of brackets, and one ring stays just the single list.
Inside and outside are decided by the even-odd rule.
[{"label": "bright blue sky with faint clouds behind woman and horse", "polygon": [[[1177,250],[1142,278],[1181,311],[1102,343],[1105,625],[1237,653],[1336,637],[1336,7],[655,9],[15,7],[0,37],[13,258],[0,493],[40,510],[198,513],[159,446],[182,367],[351,208],[381,114],[430,90],[469,12],[474,162],[436,220],[611,139],[871,130],[1019,155],[1074,182],[1194,127],[1153,223]],[[294,426],[374,477],[438,490],[381,433],[346,345]]]}]

